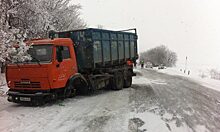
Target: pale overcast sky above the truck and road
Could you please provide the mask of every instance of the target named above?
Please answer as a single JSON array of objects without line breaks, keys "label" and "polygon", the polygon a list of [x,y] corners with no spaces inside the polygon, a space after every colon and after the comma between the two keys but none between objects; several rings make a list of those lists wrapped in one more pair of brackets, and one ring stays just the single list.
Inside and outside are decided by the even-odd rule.
[{"label": "pale overcast sky above the truck and road", "polygon": [[220,0],[73,0],[88,27],[137,28],[139,52],[166,45],[178,63],[220,66]]}]

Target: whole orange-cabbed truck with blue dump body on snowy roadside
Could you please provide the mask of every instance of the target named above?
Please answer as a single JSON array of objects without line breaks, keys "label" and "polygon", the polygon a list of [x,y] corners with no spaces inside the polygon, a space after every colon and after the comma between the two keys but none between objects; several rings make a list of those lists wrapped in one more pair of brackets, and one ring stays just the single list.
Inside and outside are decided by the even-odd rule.
[{"label": "whole orange-cabbed truck with blue dump body on snowy roadside", "polygon": [[42,103],[132,84],[137,33],[102,29],[49,32],[48,39],[27,41],[32,60],[8,64],[8,101]]}]

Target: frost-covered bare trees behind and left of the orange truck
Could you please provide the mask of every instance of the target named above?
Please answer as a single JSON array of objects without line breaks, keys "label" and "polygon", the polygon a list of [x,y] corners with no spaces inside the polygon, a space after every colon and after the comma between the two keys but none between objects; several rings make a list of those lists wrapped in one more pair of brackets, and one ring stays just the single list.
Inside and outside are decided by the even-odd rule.
[{"label": "frost-covered bare trees behind and left of the orange truck", "polygon": [[0,65],[30,59],[26,39],[47,38],[50,30],[85,28],[80,10],[71,0],[0,0]]}]

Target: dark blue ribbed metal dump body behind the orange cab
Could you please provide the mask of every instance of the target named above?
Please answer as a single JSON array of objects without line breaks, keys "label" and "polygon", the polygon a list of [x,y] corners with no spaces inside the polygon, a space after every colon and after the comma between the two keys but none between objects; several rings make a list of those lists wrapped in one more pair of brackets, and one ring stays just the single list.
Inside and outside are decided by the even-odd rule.
[{"label": "dark blue ribbed metal dump body behind the orange cab", "polygon": [[89,28],[49,36],[72,39],[80,72],[122,65],[138,56],[136,33]]}]

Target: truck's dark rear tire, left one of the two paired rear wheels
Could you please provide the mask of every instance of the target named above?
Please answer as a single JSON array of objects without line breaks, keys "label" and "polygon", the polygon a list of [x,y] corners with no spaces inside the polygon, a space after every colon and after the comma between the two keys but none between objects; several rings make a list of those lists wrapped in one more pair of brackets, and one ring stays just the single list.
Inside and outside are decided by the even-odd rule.
[{"label": "truck's dark rear tire, left one of the two paired rear wheels", "polygon": [[124,76],[122,72],[115,72],[112,79],[112,89],[121,90],[123,89]]}]

